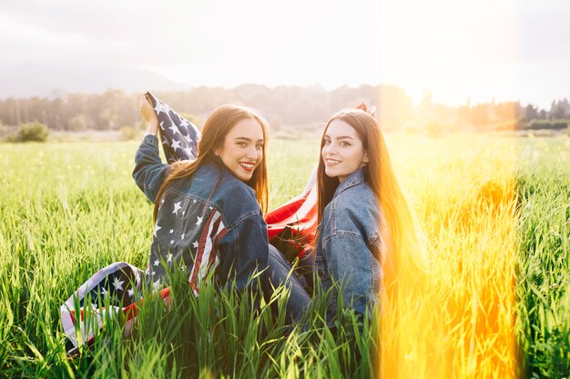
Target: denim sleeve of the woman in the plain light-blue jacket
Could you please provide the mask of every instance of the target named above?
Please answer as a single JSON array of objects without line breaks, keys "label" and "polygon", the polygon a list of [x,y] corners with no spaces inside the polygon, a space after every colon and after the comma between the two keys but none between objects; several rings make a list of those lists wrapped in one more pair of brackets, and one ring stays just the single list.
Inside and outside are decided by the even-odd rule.
[{"label": "denim sleeve of the woman in the plain light-blue jacket", "polygon": [[358,314],[378,303],[382,266],[360,234],[337,230],[326,256],[334,280],[341,282],[343,304]]}]

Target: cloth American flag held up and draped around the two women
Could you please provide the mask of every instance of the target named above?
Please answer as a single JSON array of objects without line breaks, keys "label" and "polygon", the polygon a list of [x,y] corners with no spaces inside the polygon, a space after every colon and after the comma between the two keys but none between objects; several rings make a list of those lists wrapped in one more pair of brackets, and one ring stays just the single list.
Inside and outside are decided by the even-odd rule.
[{"label": "cloth American flag held up and draped around the two women", "polygon": [[[159,133],[168,163],[196,159],[200,139],[198,127],[178,115],[156,96],[150,93],[146,96],[158,116]],[[270,243],[278,247],[290,261],[295,256],[304,254],[305,244],[312,241],[316,232],[317,194],[314,176],[313,173],[305,190],[299,196],[271,211],[265,217]],[[155,233],[156,228],[157,226]],[[157,266],[157,262],[157,260],[149,262],[149,270],[153,270],[152,267]],[[125,262],[109,264],[91,276],[65,304],[61,305],[61,322],[67,336],[67,354],[76,354],[80,345],[93,343],[97,330],[103,327],[106,314],[123,314],[127,322],[126,329],[130,328],[142,301],[138,294],[145,274],[148,273]],[[199,274],[199,270],[196,274]],[[193,283],[192,278],[196,279],[195,276],[190,275],[190,283]],[[158,290],[158,288],[159,286],[155,294],[167,301],[170,289],[167,287]],[[104,301],[108,301],[109,306],[101,306]],[[84,323],[86,317],[94,317],[94,322]],[[87,326],[89,324],[91,327]]]}]

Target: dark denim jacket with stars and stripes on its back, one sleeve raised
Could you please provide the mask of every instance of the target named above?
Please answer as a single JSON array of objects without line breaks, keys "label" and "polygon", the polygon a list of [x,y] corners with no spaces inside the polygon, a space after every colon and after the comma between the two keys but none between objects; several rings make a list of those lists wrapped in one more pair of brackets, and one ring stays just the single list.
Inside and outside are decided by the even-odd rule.
[{"label": "dark denim jacket with stars and stripes on its back, one sleeve raised", "polygon": [[[154,203],[169,165],[158,155],[158,139],[146,135],[137,150],[133,178]],[[168,269],[180,267],[198,294],[211,270],[220,284],[248,284],[269,261],[267,224],[255,192],[221,162],[201,165],[189,179],[178,179],[160,199],[148,256],[148,283],[168,283]]]}]

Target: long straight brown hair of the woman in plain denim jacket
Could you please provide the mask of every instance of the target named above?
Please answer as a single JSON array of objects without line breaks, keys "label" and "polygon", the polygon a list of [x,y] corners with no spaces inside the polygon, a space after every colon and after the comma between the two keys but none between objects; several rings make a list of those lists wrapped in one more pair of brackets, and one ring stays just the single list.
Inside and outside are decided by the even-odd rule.
[{"label": "long straight brown hair of the woman in plain denim jacket", "polygon": [[[325,144],[324,135],[334,120],[341,120],[351,125],[361,139],[364,151],[368,153],[369,162],[367,169],[364,170],[364,180],[376,195],[390,230],[390,240],[386,241],[386,244],[389,246],[389,255],[391,255],[388,259],[394,266],[392,273],[386,274],[395,278],[399,269],[410,266],[422,272],[422,256],[415,234],[412,213],[394,174],[380,125],[372,115],[360,109],[342,110],[333,115],[325,126],[321,137],[321,151]],[[324,208],[331,203],[332,196],[339,185],[337,177],[329,177],[325,174],[324,160],[320,155],[317,168],[319,223],[322,221]]]}]

